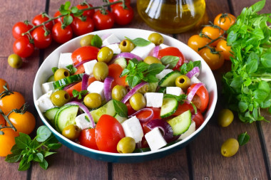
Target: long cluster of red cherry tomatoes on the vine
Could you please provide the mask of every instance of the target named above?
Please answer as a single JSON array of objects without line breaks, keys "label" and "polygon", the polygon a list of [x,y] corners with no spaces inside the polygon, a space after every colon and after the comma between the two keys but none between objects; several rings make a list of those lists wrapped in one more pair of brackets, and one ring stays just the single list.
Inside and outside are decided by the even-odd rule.
[{"label": "long cluster of red cherry tomatoes on the vine", "polygon": [[[114,3],[118,0],[109,0],[109,3]],[[16,39],[13,45],[13,51],[19,57],[11,58],[9,64],[13,68],[19,68],[18,61],[21,58],[27,58],[34,53],[34,48],[47,48],[52,41],[57,43],[66,43],[73,36],[81,36],[96,30],[112,28],[115,23],[126,25],[133,20],[133,9],[130,5],[130,0],[125,3],[108,4],[111,5],[111,11],[106,9],[83,10],[93,7],[91,4],[83,2],[78,4],[77,9],[83,11],[81,16],[73,16],[71,12],[72,22],[68,26],[63,24],[64,16],[60,11],[56,11],[53,18],[47,14],[39,14],[35,16],[31,23],[28,21],[18,22],[12,29],[12,34]],[[56,18],[61,16],[59,18]],[[46,22],[43,24],[44,22]],[[44,26],[41,26],[43,24]],[[29,33],[27,33],[29,32]],[[21,57],[21,58],[20,58]],[[14,63],[16,62],[16,63]]]}]

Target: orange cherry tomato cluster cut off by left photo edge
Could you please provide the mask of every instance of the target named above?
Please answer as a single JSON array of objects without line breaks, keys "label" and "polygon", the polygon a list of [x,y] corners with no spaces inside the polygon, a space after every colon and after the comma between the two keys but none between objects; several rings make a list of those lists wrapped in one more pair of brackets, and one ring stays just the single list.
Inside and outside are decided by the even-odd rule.
[{"label": "orange cherry tomato cluster cut off by left photo edge", "polygon": [[26,111],[24,96],[8,88],[6,80],[0,79],[0,157],[11,154],[19,132],[30,134],[36,126],[34,115]]}]

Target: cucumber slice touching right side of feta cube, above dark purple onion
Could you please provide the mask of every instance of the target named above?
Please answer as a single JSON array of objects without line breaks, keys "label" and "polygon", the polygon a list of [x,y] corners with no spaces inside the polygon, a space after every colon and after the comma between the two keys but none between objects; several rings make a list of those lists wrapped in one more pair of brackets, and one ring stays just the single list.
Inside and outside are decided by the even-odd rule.
[{"label": "cucumber slice touching right side of feta cube, above dark purple onion", "polygon": [[178,109],[178,101],[175,98],[164,98],[160,117],[169,117]]}]

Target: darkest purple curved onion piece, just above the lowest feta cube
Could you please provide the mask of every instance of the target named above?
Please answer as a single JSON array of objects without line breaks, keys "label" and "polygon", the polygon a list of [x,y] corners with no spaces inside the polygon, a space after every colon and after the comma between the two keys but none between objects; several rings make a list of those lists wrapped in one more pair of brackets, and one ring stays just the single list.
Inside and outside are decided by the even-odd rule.
[{"label": "darkest purple curved onion piece, just above the lowest feta cube", "polygon": [[150,129],[154,129],[155,127],[161,129],[163,131],[163,138],[166,142],[170,142],[171,139],[173,139],[173,129],[165,120],[151,120],[146,126]]}]

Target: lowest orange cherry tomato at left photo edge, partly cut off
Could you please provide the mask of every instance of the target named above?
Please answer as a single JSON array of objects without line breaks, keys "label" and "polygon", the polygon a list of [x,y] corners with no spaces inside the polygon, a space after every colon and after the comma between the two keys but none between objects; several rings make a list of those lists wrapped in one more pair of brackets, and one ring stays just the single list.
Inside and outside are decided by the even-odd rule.
[{"label": "lowest orange cherry tomato at left photo edge, partly cut off", "polygon": [[6,157],[11,154],[11,148],[15,144],[15,137],[19,136],[19,133],[11,128],[4,128],[1,131],[4,132],[4,135],[0,135],[0,157]]}]

